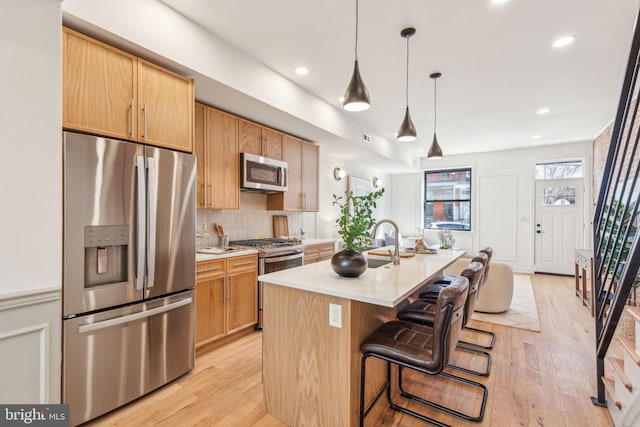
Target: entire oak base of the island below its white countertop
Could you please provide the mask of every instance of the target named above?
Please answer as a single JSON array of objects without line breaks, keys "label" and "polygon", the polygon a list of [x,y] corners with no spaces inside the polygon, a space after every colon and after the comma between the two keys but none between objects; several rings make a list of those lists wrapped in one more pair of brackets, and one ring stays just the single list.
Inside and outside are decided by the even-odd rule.
[{"label": "entire oak base of the island below its white countertop", "polygon": [[[329,326],[330,303],[342,306],[342,328]],[[408,301],[383,307],[265,283],[262,357],[266,412],[291,426],[309,422],[357,426],[360,344],[380,325],[395,319],[406,304]],[[385,376],[384,362],[367,361],[367,405]],[[371,419],[386,407],[386,400],[380,399],[370,412]]]}]

